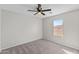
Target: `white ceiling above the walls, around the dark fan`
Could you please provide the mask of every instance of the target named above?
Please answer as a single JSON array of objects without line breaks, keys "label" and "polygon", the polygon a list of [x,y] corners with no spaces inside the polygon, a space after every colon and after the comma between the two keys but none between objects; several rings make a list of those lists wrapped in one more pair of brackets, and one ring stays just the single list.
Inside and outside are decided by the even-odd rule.
[{"label": "white ceiling above the walls, around the dark fan", "polygon": [[79,9],[79,4],[42,4],[43,9],[48,9],[48,8],[52,9],[51,12],[45,12],[45,14],[46,14],[45,16],[43,16],[41,14],[33,15],[35,12],[27,11],[29,9],[36,9],[37,4],[11,4],[11,5],[3,4],[3,5],[0,5],[0,7],[5,10],[23,13],[23,14],[37,17],[37,18],[38,17],[43,18],[43,17],[54,16],[54,15],[58,15],[58,14],[62,14],[65,12]]}]

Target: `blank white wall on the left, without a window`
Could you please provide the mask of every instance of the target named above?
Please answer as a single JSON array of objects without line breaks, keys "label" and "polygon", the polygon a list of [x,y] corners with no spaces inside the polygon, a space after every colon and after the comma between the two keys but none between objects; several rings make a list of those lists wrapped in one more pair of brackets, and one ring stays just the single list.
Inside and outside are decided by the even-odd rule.
[{"label": "blank white wall on the left, without a window", "polygon": [[42,39],[42,20],[30,15],[2,10],[1,48],[6,49]]}]

